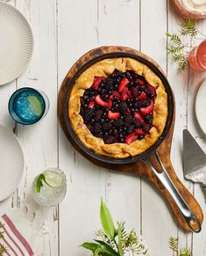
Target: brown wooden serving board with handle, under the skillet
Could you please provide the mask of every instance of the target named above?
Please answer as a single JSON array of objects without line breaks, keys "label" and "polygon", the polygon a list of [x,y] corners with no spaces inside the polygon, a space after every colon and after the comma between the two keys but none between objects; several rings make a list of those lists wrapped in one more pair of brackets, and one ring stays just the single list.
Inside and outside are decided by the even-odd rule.
[{"label": "brown wooden serving board with handle, under the skillet", "polygon": [[[148,61],[153,62],[153,64],[160,69],[160,71],[163,73],[162,69],[158,65],[158,63],[154,62],[153,59],[150,57],[140,53],[137,50],[134,50],[132,48],[125,48],[125,47],[101,47],[101,48],[95,48],[89,51],[87,54],[83,55],[77,62],[75,62],[75,65],[69,70],[67,73],[67,77],[65,77],[61,88],[60,88],[60,93],[59,93],[59,100],[58,100],[58,115],[59,115],[59,120],[61,127],[63,128],[65,134],[67,135],[67,138],[70,140],[71,143],[73,141],[71,140],[70,136],[67,133],[67,128],[65,126],[64,122],[64,100],[65,100],[65,94],[67,91],[67,83],[68,81],[74,77],[75,72],[82,67],[86,62],[89,60],[93,59],[94,57],[97,57],[99,55],[103,55],[106,53],[111,53],[111,52],[127,52],[135,55],[139,55],[141,57],[146,58]],[[174,113],[175,115],[175,113]],[[175,187],[179,190],[181,193],[182,197],[184,200],[188,203],[189,208],[194,212],[195,216],[198,217],[200,223],[203,221],[203,214],[202,214],[202,208],[198,204],[198,202],[195,200],[194,196],[188,192],[188,189],[183,186],[181,183],[181,180],[178,179],[173,165],[170,160],[170,150],[171,150],[171,143],[172,143],[172,137],[173,137],[173,132],[174,132],[174,120],[172,127],[170,128],[169,133],[167,134],[166,139],[164,140],[163,143],[160,144],[160,147],[158,148],[158,153],[160,156],[160,159],[163,163],[163,165],[167,169],[167,173],[170,176],[170,178],[173,180]],[[75,146],[76,150],[79,150],[76,145],[73,143]],[[83,154],[83,152],[81,151]],[[87,158],[89,158],[87,156]],[[170,205],[174,212],[174,216],[177,220],[177,222],[181,225],[181,227],[184,230],[190,231],[188,228],[188,224],[185,223],[184,219],[181,216],[181,213],[179,209],[176,207],[176,204],[170,194],[167,192],[167,189],[160,183],[159,179],[156,178],[156,176],[153,174],[152,170],[148,168],[143,162],[138,161],[136,163],[132,163],[130,165],[106,165],[103,163],[98,162],[97,160],[94,160],[93,158],[89,158],[89,160],[94,163],[95,165],[100,165],[105,168],[109,168],[118,172],[127,172],[127,173],[132,173],[135,175],[141,175],[149,179],[155,187],[157,187],[160,190],[160,193],[165,197],[167,200],[167,203]],[[158,165],[155,164],[155,157],[152,154],[150,156],[150,160],[154,162],[154,165],[158,169]]]}]

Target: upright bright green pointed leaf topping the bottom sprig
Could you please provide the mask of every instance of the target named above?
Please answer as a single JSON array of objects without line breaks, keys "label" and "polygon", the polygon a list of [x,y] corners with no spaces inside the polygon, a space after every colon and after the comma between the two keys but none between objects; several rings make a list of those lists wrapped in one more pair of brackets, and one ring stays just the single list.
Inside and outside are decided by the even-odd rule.
[{"label": "upright bright green pointed leaf topping the bottom sprig", "polygon": [[110,215],[110,211],[103,202],[103,198],[101,199],[100,219],[104,232],[111,240],[113,240],[115,238],[115,226]]}]

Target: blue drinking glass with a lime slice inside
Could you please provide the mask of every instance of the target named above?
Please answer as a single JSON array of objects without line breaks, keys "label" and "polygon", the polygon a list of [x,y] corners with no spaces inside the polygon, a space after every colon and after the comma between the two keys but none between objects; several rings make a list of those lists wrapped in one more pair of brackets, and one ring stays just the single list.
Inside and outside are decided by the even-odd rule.
[{"label": "blue drinking glass with a lime slice inside", "polygon": [[49,109],[49,99],[43,91],[25,87],[11,95],[8,107],[14,121],[30,125],[46,115]]}]

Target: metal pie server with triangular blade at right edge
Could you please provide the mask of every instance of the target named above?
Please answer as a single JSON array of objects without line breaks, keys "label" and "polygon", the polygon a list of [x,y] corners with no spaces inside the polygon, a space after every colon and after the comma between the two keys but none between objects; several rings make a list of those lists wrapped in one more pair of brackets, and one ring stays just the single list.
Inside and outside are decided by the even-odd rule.
[{"label": "metal pie server with triangular blade at right edge", "polygon": [[187,129],[183,130],[183,171],[185,179],[202,184],[206,201],[206,155]]}]

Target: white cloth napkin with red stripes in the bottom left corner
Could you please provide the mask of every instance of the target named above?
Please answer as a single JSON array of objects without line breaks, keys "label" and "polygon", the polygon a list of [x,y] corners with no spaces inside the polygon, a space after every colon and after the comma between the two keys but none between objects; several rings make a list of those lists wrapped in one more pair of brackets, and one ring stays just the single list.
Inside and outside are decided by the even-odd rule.
[{"label": "white cloth napkin with red stripes in the bottom left corner", "polygon": [[21,208],[12,208],[11,211],[0,217],[4,231],[4,238],[0,245],[4,245],[11,256],[42,255],[41,238],[49,233],[40,208],[26,204]]}]

